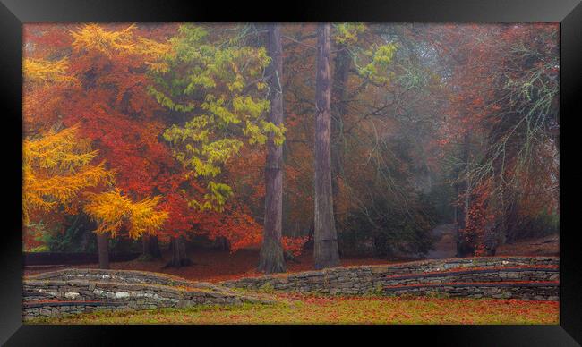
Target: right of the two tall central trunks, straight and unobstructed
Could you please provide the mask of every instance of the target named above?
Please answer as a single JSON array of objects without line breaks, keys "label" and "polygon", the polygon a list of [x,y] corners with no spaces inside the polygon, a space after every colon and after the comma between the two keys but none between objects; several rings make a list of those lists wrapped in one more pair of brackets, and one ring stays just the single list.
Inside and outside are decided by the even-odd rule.
[{"label": "right of the two tall central trunks, straight and unobstructed", "polygon": [[330,158],[330,24],[319,24],[315,82],[315,268],[339,265]]}]

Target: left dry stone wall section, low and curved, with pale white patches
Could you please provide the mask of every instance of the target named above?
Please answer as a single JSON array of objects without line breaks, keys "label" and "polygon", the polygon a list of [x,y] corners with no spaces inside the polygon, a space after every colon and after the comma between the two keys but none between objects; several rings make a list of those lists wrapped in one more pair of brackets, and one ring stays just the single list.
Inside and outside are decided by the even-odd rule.
[{"label": "left dry stone wall section, low and curved, with pale white patches", "polygon": [[181,308],[201,304],[270,303],[214,284],[140,271],[65,269],[23,283],[23,315],[60,317],[100,310]]}]

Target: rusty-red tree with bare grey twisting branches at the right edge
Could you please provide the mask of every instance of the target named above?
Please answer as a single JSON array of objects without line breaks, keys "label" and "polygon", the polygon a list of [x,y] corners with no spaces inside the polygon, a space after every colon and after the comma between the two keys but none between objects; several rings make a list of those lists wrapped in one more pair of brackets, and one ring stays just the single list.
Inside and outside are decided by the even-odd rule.
[{"label": "rusty-red tree with bare grey twisting branches at the right edge", "polygon": [[[455,90],[445,141],[459,144],[458,255],[491,255],[531,228],[526,221],[557,210],[556,30],[450,26],[435,35]],[[533,196],[539,205],[526,203]]]}]

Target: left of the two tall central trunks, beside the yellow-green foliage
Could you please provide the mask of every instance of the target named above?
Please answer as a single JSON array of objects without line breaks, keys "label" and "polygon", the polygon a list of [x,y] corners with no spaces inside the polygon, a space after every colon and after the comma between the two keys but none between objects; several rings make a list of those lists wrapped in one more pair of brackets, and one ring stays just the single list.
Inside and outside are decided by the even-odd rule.
[{"label": "left of the two tall central trunks, beside the yellow-green foliage", "polygon": [[[279,24],[269,27],[269,86],[270,118],[275,125],[283,123],[283,56]],[[273,134],[267,142],[267,163],[265,165],[265,222],[262,234],[259,271],[267,274],[285,272],[285,258],[281,246],[283,223],[283,147],[277,145]]]}]

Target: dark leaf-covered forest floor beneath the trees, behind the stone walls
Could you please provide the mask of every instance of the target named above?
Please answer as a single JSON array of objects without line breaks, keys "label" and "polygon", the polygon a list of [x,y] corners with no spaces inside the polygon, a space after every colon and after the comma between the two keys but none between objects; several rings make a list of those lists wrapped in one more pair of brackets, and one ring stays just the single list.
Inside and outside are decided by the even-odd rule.
[{"label": "dark leaf-covered forest floor beneath the trees, behind the stone walls", "polygon": [[[445,224],[435,229],[440,239],[435,243],[435,250],[429,252],[424,258],[454,258],[455,241],[451,224]],[[559,235],[550,235],[543,238],[519,241],[513,244],[502,245],[498,251],[498,256],[558,256],[559,255]],[[193,260],[193,265],[189,267],[173,268],[165,267],[170,258],[169,252],[165,251],[163,258],[152,261],[132,261],[112,262],[112,269],[153,271],[169,275],[177,275],[193,281],[220,282],[230,279],[260,276],[256,271],[259,259],[259,250],[237,250],[235,252],[197,249],[190,250],[189,258]],[[342,257],[342,266],[379,265],[394,264],[405,261],[418,260],[419,258],[371,258],[371,257]],[[98,264],[82,264],[67,267],[96,268]],[[64,267],[29,267],[25,268],[25,275],[37,274],[39,272],[55,271]],[[295,273],[313,269],[312,250],[304,250],[295,261],[287,261],[287,272]]]}]

